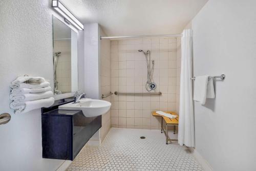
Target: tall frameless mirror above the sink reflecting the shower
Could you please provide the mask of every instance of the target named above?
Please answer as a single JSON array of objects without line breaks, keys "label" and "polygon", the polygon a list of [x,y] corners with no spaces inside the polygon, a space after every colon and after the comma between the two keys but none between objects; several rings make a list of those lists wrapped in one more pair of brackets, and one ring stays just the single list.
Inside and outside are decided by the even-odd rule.
[{"label": "tall frameless mirror above the sink reflecting the shower", "polygon": [[78,90],[77,33],[53,16],[54,94]]}]

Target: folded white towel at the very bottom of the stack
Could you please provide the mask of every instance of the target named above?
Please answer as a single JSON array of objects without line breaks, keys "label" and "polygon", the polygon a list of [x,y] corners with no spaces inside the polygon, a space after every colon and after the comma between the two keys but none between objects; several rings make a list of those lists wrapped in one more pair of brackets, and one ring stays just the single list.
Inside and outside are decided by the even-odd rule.
[{"label": "folded white towel at the very bottom of the stack", "polygon": [[19,101],[19,102],[11,102],[10,108],[13,109],[16,113],[26,113],[35,109],[40,108],[48,108],[54,103],[54,98],[46,98],[40,100],[33,101]]}]

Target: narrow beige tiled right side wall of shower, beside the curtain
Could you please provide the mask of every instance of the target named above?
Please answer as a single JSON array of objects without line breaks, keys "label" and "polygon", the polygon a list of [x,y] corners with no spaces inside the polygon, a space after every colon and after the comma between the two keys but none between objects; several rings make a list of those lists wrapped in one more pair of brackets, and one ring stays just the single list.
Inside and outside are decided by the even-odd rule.
[{"label": "narrow beige tiled right side wall of shower, beside the curtain", "polygon": [[176,87],[176,110],[180,108],[180,66],[181,66],[181,37],[177,37],[177,87]]}]

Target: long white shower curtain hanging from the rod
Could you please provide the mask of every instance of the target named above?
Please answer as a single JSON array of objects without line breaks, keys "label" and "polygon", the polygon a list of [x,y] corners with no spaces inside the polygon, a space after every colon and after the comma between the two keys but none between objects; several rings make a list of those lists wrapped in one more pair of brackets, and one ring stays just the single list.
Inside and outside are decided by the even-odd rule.
[{"label": "long white shower curtain hanging from the rod", "polygon": [[193,39],[190,29],[183,31],[181,38],[181,75],[180,75],[180,111],[179,134],[180,145],[195,146],[194,110],[192,95],[192,60]]}]

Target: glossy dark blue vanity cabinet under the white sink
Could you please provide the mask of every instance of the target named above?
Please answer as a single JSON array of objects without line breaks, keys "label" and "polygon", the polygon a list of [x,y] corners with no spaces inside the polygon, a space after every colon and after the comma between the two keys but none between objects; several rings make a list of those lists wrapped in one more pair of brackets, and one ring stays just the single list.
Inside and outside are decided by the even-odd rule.
[{"label": "glossy dark blue vanity cabinet under the white sink", "polygon": [[42,158],[73,160],[100,129],[101,116],[87,118],[82,111],[42,109],[41,123]]}]

